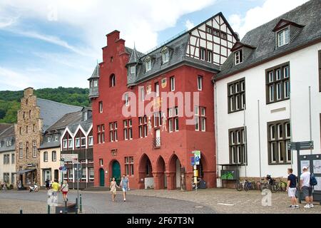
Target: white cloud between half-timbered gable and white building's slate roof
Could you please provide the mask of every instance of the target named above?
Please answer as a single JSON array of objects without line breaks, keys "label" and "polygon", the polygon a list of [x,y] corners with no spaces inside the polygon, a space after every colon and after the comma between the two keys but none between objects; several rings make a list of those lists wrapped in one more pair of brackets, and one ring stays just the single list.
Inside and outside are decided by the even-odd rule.
[{"label": "white cloud between half-timbered gable and white building's slate roof", "polygon": [[228,21],[233,30],[240,34],[240,38],[243,38],[245,33],[251,29],[265,24],[307,1],[308,0],[265,0],[263,6],[257,6],[248,10],[245,16],[233,14],[229,17]]}]

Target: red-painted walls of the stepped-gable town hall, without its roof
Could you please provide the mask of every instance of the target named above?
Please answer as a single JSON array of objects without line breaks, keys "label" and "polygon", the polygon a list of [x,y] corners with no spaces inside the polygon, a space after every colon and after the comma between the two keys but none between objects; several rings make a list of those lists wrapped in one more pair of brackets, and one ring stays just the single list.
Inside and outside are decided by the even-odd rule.
[{"label": "red-painted walls of the stepped-gable town hall, without its roof", "polygon": [[[193,166],[190,164],[190,157],[193,156],[194,150],[200,150],[200,174],[203,175],[207,187],[215,187],[214,93],[211,80],[214,73],[181,64],[137,86],[128,88],[126,63],[130,56],[126,52],[125,41],[119,36],[118,31],[107,35],[108,46],[103,48],[103,62],[100,63],[99,95],[98,98],[92,99],[95,186],[108,187],[110,178],[119,175],[118,162],[121,175],[128,173],[130,186],[133,189],[143,189],[145,177],[153,177],[155,190],[165,187],[168,190],[174,190],[180,187],[180,176],[183,174],[180,168],[183,167],[185,168],[185,180],[183,181],[185,181],[186,189],[192,190]],[[116,77],[115,86],[111,83],[112,75]],[[198,90],[198,76],[203,78],[203,88],[200,91]],[[133,92],[137,95],[138,101],[138,90],[140,90],[138,86],[144,86],[145,91],[147,86],[151,86],[151,90],[155,91],[156,83],[159,84],[160,93],[169,92],[170,77],[175,77],[175,92],[200,92],[199,106],[205,108],[205,132],[195,131],[195,125],[186,125],[186,118],[179,117],[178,131],[174,130],[169,133],[169,122],[167,121],[167,131],[161,129],[158,135],[161,136],[161,145],[155,146],[155,135],[158,128],[154,128],[154,118],[151,118],[153,135],[140,138],[138,127],[140,119],[138,116],[128,118],[122,115],[125,103],[122,96],[124,93]],[[164,78],[167,79],[166,86],[162,85]],[[145,101],[146,104],[148,102],[150,101]],[[168,113],[166,116],[169,118]],[[126,129],[131,128],[132,140],[129,139],[129,131],[127,131],[128,140],[124,140],[124,120],[131,120],[131,126],[127,122]],[[143,119],[141,121],[144,122]],[[115,125],[111,130],[110,123],[117,123],[117,142],[114,135]],[[113,142],[111,142],[111,131]]]}]

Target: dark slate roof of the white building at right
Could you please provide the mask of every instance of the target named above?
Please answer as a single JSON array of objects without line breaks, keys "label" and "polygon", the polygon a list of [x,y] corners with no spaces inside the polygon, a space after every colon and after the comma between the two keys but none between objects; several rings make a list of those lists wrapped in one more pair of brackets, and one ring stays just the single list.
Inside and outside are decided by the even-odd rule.
[{"label": "dark slate roof of the white building at right", "polygon": [[[281,19],[292,21],[304,27],[293,41],[276,49],[275,33],[272,30]],[[250,46],[255,46],[256,48],[253,53],[251,53],[243,63],[240,63],[237,66],[233,66],[233,55],[231,54],[223,66],[221,66],[221,71],[215,76],[215,79],[238,73],[250,66],[255,66],[255,64],[259,64],[262,61],[266,61],[269,58],[281,55],[287,51],[295,50],[295,48],[299,48],[300,46],[304,46],[320,38],[321,1],[311,0],[246,33],[241,42]]]}]

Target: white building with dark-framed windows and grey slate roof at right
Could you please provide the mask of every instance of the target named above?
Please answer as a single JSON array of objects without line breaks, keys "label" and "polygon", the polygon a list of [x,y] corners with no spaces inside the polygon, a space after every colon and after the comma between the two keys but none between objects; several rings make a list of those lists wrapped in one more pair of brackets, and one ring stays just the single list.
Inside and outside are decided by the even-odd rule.
[{"label": "white building with dark-framed windows and grey slate roof at right", "polygon": [[215,76],[217,162],[243,164],[240,177],[297,174],[290,141],[321,152],[320,9],[308,1],[249,31]]}]

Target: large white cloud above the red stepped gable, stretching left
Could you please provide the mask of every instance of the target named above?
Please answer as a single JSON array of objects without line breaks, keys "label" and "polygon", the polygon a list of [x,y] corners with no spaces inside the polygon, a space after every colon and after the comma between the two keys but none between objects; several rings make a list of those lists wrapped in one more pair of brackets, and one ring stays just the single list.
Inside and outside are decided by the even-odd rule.
[{"label": "large white cloud above the red stepped gable, stretching left", "polygon": [[[49,20],[49,23],[65,23],[81,29],[79,36],[97,50],[96,53],[100,53],[98,51],[106,45],[106,33],[115,29],[122,32],[121,36],[126,39],[127,46],[133,46],[135,41],[138,50],[147,51],[156,46],[158,31],[175,26],[180,16],[203,9],[214,2],[215,0],[1,0],[0,8],[15,9],[21,18],[49,20],[53,15],[57,16],[57,21]],[[70,48],[52,37],[48,41]]]}]

